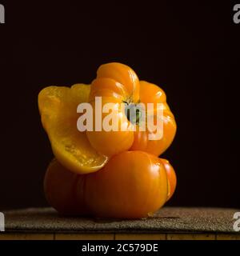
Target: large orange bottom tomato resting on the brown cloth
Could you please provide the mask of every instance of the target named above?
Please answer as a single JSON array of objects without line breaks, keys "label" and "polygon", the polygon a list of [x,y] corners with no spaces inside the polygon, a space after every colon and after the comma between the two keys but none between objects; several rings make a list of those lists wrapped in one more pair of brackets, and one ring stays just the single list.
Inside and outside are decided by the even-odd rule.
[{"label": "large orange bottom tomato resting on the brown cloth", "polygon": [[146,152],[126,151],[91,174],[74,174],[54,161],[46,173],[46,198],[61,213],[144,218],[161,208],[173,191],[165,161]]}]

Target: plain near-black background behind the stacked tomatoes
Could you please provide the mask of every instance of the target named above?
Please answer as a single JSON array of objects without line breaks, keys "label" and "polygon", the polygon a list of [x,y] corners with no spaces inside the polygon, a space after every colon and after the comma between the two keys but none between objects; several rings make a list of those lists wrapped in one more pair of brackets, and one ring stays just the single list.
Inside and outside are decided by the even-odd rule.
[{"label": "plain near-black background behind the stacked tomatoes", "polygon": [[164,154],[178,175],[168,205],[239,206],[239,100],[233,98],[240,24],[232,21],[233,4],[0,2],[6,8],[6,24],[0,24],[0,210],[46,206],[42,181],[53,155],[38,92],[91,82],[105,62],[123,62],[166,91],[178,123]]}]

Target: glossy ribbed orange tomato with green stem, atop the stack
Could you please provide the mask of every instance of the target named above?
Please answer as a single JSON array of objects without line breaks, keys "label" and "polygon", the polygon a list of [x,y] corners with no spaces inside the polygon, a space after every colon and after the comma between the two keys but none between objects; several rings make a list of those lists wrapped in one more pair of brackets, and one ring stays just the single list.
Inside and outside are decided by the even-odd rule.
[{"label": "glossy ribbed orange tomato with green stem, atop the stack", "polygon": [[[109,113],[102,113],[99,117],[95,97],[102,97],[102,106],[112,103],[117,110],[118,122],[115,124],[118,131],[98,131],[95,125],[104,122]],[[164,152],[174,139],[176,122],[166,103],[166,94],[161,88],[149,82],[138,81],[138,76],[129,66],[120,63],[108,63],[98,69],[97,78],[92,82],[90,88],[89,102],[94,108],[94,130],[87,131],[87,137],[91,146],[100,154],[112,156],[126,150],[142,150],[150,154],[159,155]],[[121,106],[125,103],[125,108]],[[150,130],[140,131],[139,122],[130,122],[126,108],[135,107],[138,103],[154,103],[154,111],[151,115],[157,115],[157,103],[163,105],[163,136],[158,140],[149,140],[149,135],[154,135]],[[96,107],[96,110],[95,110]],[[138,110],[138,117],[142,114]],[[147,113],[148,114],[148,113]],[[97,121],[96,121],[97,120]],[[129,127],[129,130],[120,130],[120,127]],[[135,128],[135,131],[134,131]]]}]

